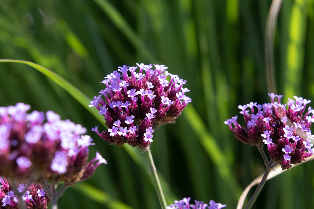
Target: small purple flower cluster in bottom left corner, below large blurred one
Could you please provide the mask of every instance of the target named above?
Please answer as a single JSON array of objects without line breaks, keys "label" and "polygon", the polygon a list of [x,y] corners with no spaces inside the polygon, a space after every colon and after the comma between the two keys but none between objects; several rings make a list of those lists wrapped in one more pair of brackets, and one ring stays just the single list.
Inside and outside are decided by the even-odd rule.
[{"label": "small purple flower cluster in bottom left corner, below large blurred one", "polygon": [[[49,197],[41,185],[31,183],[29,186],[24,184],[17,185],[17,191],[12,190],[12,186],[5,178],[0,178],[0,202],[1,208],[17,209],[19,201],[22,200],[27,209],[46,209],[49,204]],[[19,194],[15,194],[15,193]],[[20,199],[19,199],[20,197]]]}]

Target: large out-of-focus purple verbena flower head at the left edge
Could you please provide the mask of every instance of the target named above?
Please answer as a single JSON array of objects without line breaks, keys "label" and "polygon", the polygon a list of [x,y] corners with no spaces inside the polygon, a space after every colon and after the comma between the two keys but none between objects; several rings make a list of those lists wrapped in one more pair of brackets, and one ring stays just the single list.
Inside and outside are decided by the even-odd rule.
[{"label": "large out-of-focus purple verbena flower head at the left edge", "polygon": [[[17,182],[47,180],[73,185],[89,178],[101,163],[100,154],[87,163],[93,144],[86,128],[62,121],[52,111],[27,113],[29,105],[0,107],[0,176]],[[93,164],[95,161],[95,165]]]}]

